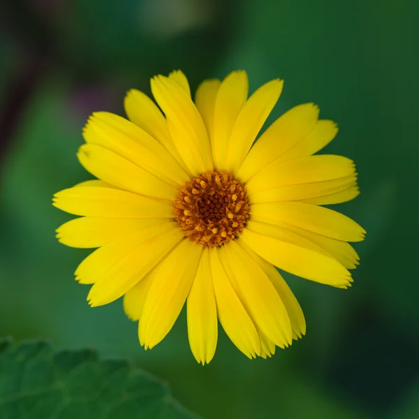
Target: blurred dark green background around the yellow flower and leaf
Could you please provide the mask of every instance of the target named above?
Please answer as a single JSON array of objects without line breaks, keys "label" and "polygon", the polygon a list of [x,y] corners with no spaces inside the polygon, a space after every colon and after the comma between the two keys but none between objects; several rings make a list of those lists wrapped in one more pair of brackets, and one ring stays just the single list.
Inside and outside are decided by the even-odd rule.
[{"label": "blurred dark green background around the yellow flower and leaf", "polygon": [[[168,381],[205,419],[419,418],[419,3],[407,0],[3,0],[0,6],[0,337],[97,348]],[[287,276],[307,336],[248,360],[220,332],[193,359],[181,318],[140,348],[122,302],[91,309],[57,243],[52,194],[90,176],[75,152],[94,110],[182,68],[285,80],[274,117],[315,102],[339,123],[328,153],[354,159],[361,195],[338,209],[368,232],[348,291]]]}]

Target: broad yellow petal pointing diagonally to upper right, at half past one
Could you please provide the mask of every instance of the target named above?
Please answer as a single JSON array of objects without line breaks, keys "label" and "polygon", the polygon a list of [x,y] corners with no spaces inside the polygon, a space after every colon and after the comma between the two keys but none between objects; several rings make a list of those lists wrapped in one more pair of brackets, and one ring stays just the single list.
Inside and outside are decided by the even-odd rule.
[{"label": "broad yellow petal pointing diagonally to upper right, at half past one", "polygon": [[316,125],[318,107],[314,103],[295,106],[279,117],[253,145],[237,177],[246,182],[304,138]]}]

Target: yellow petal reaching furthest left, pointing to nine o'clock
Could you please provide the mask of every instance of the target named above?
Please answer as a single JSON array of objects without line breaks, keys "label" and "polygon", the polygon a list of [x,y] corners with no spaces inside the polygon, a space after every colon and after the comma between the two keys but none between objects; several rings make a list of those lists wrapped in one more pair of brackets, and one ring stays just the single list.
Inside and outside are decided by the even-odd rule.
[{"label": "yellow petal reaching furthest left, pointing to nine o'clock", "polygon": [[54,195],[55,207],[74,215],[128,219],[170,219],[169,201],[157,201],[136,193],[101,186],[76,186]]}]

